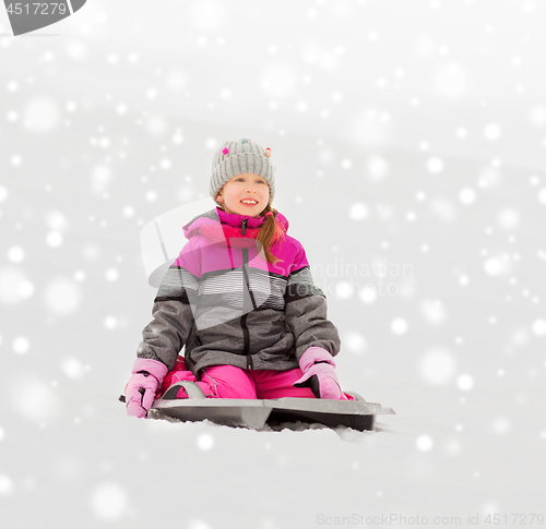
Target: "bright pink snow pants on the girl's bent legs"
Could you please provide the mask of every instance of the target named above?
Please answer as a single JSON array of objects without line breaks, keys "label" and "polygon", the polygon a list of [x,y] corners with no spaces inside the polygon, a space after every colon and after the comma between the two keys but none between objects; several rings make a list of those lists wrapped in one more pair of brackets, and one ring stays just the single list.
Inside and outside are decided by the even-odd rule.
[{"label": "bright pink snow pants on the girl's bent legs", "polygon": [[[180,369],[181,368],[181,369]],[[198,381],[191,371],[186,371],[186,365],[180,359],[174,371],[170,371],[157,394],[163,394],[173,384],[180,381],[194,382],[205,394],[206,398],[314,398],[308,387],[294,387],[293,384],[304,373],[299,368],[287,371],[247,370],[234,365],[212,365],[204,368],[201,381]],[[177,398],[188,398],[183,388]],[[349,395],[342,393],[342,400],[353,400]]]}]

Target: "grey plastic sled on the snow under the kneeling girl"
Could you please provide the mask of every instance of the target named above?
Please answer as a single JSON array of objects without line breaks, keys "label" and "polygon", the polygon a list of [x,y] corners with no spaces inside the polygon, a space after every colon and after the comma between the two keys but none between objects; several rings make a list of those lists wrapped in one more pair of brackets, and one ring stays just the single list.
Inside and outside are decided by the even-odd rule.
[{"label": "grey plastic sled on the snow under the kneeling girl", "polygon": [[[175,398],[183,387],[189,398]],[[179,382],[170,386],[165,395],[156,399],[147,417],[151,419],[175,419],[175,422],[199,422],[209,420],[215,424],[233,428],[262,430],[305,430],[311,424],[328,428],[375,430],[376,416],[395,414],[392,408],[377,402],[367,402],[356,393],[348,393],[355,400],[327,400],[316,398],[240,399],[204,398],[199,386],[191,382]],[[121,398],[120,398],[121,400]],[[124,400],[124,399],[122,399]]]}]

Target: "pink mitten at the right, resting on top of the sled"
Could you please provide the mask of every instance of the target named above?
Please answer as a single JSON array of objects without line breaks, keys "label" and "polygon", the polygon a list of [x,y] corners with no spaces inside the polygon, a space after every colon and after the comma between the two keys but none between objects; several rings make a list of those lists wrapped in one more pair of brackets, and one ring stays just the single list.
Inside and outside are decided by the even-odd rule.
[{"label": "pink mitten at the right, resting on top of the sled", "polygon": [[299,359],[304,376],[293,385],[310,387],[317,398],[343,399],[332,354],[322,347],[310,347]]}]

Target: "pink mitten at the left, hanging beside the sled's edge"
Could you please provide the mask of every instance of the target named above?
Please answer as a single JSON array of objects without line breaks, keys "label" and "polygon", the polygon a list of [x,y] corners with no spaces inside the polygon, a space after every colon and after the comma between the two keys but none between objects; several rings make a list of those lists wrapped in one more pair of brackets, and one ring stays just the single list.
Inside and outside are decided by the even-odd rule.
[{"label": "pink mitten at the left, hanging beside the sled's edge", "polygon": [[126,408],[130,416],[146,417],[168,369],[151,358],[138,358],[126,386]]}]

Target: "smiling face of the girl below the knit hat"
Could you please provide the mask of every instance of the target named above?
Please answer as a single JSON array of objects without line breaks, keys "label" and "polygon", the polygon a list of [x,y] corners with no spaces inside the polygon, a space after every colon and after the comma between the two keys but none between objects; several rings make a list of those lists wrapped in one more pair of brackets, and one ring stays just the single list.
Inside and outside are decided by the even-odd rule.
[{"label": "smiling face of the girl below the knit hat", "polygon": [[227,181],[216,200],[226,213],[259,217],[270,200],[270,187],[258,175],[246,172]]}]

